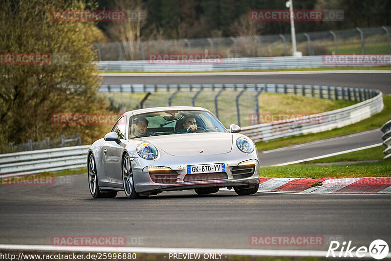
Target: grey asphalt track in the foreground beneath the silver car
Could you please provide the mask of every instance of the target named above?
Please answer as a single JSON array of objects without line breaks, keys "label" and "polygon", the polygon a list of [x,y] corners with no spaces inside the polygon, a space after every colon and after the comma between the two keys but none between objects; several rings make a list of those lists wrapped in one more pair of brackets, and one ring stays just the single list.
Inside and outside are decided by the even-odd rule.
[{"label": "grey asphalt track in the foreground beneath the silver car", "polygon": [[123,192],[92,199],[87,174],[55,181],[1,187],[1,243],[50,245],[53,236],[117,235],[126,236],[127,246],[249,249],[256,248],[249,245],[251,235],[323,235],[324,246],[293,248],[327,250],[330,238],[367,246],[374,239],[391,240],[389,195],[183,191],[139,200]]}]

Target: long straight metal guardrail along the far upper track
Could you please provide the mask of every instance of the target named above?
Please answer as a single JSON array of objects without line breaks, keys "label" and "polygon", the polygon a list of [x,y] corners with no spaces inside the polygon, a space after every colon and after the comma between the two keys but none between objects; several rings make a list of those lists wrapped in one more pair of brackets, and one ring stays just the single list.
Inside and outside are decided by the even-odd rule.
[{"label": "long straight metal guardrail along the far upper track", "polygon": [[[316,68],[316,67],[360,67],[371,66],[360,64],[326,64],[323,56],[303,57],[256,57],[221,59],[216,64],[153,64],[148,61],[101,61],[96,62],[98,69],[108,71],[138,71],[138,72],[172,72],[172,71],[227,71],[227,70],[263,70],[284,68]],[[378,66],[374,64],[373,66]]]}]

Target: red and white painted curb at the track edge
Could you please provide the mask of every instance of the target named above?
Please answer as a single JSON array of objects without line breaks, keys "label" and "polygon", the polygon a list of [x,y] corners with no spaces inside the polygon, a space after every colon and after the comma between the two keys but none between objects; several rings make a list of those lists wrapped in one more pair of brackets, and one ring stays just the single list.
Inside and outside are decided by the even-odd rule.
[{"label": "red and white painted curb at the track edge", "polygon": [[[316,181],[321,186],[311,187]],[[258,192],[311,194],[391,194],[391,177],[273,178],[261,177]]]}]

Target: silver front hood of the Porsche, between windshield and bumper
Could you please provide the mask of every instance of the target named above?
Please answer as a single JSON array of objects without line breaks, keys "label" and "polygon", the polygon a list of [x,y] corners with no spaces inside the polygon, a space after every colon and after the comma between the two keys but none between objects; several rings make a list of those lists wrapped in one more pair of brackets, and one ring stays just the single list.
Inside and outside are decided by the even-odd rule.
[{"label": "silver front hood of the Porsche, between windshield and bumper", "polygon": [[232,134],[227,132],[173,134],[142,140],[173,156],[216,155],[232,150]]}]

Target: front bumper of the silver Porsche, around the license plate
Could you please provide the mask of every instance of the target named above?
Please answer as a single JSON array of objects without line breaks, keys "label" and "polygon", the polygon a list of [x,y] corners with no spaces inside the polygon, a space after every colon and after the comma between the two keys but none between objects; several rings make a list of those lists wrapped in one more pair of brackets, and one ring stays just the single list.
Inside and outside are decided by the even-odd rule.
[{"label": "front bumper of the silver Porsche, around the license plate", "polygon": [[[233,186],[256,186],[260,180],[259,164],[249,170],[241,171],[238,164],[255,159],[259,162],[256,152],[233,156],[231,153],[217,155],[200,155],[193,157],[174,157],[160,155],[157,160],[145,160],[140,157],[131,161],[135,190],[143,195],[153,195],[163,191],[190,190],[205,187],[233,187]],[[202,164],[225,164],[225,173],[213,174],[187,174],[187,165]],[[161,166],[172,169],[168,174],[172,178],[156,178],[155,172],[142,172],[146,166]],[[164,176],[163,172],[159,172]],[[151,178],[152,177],[152,178]]]}]

